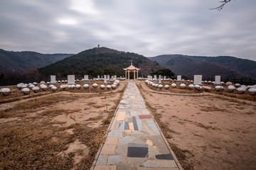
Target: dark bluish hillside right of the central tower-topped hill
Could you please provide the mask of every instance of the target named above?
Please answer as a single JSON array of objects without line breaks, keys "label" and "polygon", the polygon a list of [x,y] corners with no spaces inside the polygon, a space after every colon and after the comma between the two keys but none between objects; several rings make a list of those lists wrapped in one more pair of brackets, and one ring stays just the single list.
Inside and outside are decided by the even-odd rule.
[{"label": "dark bluish hillside right of the central tower-topped hill", "polygon": [[256,79],[256,62],[236,57],[198,57],[188,55],[159,55],[149,57],[176,74],[193,77],[202,74],[203,77],[220,75],[223,78],[250,77]]}]

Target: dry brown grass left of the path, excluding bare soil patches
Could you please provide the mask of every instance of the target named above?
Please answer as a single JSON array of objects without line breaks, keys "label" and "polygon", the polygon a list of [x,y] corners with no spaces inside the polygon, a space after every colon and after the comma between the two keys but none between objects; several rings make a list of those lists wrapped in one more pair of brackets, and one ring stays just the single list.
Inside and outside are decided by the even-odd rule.
[{"label": "dry brown grass left of the path, excluding bare soil patches", "polygon": [[[102,124],[97,128],[89,127],[89,121],[85,124],[76,123],[69,127],[63,126],[65,123],[50,121],[50,118],[56,115],[68,115],[80,110],[48,107],[58,102],[78,98],[106,98],[110,94],[90,96],[56,94],[56,96],[36,98],[35,101],[21,101],[14,107],[4,110],[2,117],[20,119],[0,123],[0,169],[90,169],[97,150],[105,140],[107,127],[125,87],[117,91],[119,98],[112,107],[107,108],[107,118],[102,119],[103,116],[90,118],[90,121],[102,120]],[[37,114],[32,117],[26,116],[28,113],[34,114],[33,112]],[[67,131],[70,129],[73,129],[73,133]],[[87,146],[88,154],[83,154],[83,150],[80,149],[64,154],[64,156],[60,155],[75,140]],[[82,160],[78,164],[74,162],[75,155],[82,155]]]}]

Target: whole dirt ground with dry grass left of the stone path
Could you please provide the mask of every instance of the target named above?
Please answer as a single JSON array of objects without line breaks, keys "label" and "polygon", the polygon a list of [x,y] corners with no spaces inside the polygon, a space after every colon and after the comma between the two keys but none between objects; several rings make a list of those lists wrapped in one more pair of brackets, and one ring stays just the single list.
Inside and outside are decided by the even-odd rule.
[{"label": "whole dirt ground with dry grass left of the stone path", "polygon": [[90,169],[125,87],[1,103],[0,169]]}]

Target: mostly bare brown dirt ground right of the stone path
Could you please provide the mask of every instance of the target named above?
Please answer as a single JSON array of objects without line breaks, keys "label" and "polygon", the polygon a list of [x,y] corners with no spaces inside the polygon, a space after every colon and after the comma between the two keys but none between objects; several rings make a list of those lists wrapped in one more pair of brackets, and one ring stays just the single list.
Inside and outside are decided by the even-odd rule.
[{"label": "mostly bare brown dirt ground right of the stone path", "polygon": [[183,169],[256,169],[256,105],[138,86]]}]

